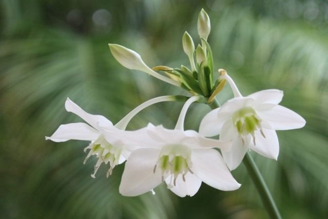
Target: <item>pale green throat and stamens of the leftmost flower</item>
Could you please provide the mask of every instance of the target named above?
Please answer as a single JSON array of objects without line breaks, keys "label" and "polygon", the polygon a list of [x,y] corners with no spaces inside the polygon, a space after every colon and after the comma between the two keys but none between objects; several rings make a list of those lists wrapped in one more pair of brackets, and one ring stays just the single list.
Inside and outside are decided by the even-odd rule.
[{"label": "pale green throat and stamens of the leftmost flower", "polygon": [[96,155],[98,161],[94,166],[94,173],[91,177],[95,178],[95,174],[98,171],[102,163],[110,164],[110,168],[107,171],[107,177],[112,174],[114,167],[118,164],[119,158],[121,156],[122,148],[115,147],[108,143],[103,135],[100,135],[96,141],[92,142],[88,147],[84,149],[85,152],[90,149],[87,157],[85,158],[83,164],[86,164],[91,155]]}]

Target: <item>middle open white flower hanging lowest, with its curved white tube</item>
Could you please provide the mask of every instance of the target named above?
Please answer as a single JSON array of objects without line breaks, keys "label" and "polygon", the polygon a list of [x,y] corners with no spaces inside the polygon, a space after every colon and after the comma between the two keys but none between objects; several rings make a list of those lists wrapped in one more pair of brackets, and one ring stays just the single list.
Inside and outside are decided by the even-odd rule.
[{"label": "middle open white flower hanging lowest, with its curved white tube", "polygon": [[213,149],[228,151],[231,142],[205,138],[193,130],[183,131],[187,108],[197,98],[191,97],[183,106],[175,130],[150,124],[134,131],[139,149],[126,163],[119,186],[122,195],[140,195],[164,181],[180,197],[193,196],[201,182],[224,191],[240,187],[220,153]]}]

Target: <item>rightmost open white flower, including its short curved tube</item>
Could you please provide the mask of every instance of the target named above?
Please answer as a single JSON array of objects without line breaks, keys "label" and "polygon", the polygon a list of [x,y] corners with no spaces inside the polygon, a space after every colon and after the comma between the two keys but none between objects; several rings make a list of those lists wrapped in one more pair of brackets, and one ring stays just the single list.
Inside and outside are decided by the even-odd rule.
[{"label": "rightmost open white flower, including its short curved tube", "polygon": [[230,151],[222,151],[230,170],[239,166],[247,150],[277,160],[279,142],[275,130],[302,128],[305,120],[294,111],[278,105],[283,92],[262,90],[242,97],[231,77],[219,70],[235,98],[210,111],[201,121],[199,133],[204,136],[220,134],[220,140],[233,141]]}]

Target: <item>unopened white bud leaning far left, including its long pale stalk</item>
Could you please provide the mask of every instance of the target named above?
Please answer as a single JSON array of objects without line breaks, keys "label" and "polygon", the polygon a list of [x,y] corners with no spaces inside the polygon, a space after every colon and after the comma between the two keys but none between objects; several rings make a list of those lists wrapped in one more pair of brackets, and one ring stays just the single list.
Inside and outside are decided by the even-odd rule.
[{"label": "unopened white bud leaning far left, including its long pale stalk", "polygon": [[128,49],[124,46],[117,45],[117,44],[108,44],[108,46],[111,50],[111,53],[117,60],[117,62],[119,62],[122,66],[124,66],[128,69],[131,69],[131,70],[139,70],[139,71],[146,72],[146,73],[160,79],[161,81],[164,81],[169,84],[180,87],[179,82],[176,82],[171,78],[165,77],[165,76],[155,72],[151,68],[149,68],[144,63],[144,61],[142,61],[141,56],[138,53],[136,53],[135,51]]}]

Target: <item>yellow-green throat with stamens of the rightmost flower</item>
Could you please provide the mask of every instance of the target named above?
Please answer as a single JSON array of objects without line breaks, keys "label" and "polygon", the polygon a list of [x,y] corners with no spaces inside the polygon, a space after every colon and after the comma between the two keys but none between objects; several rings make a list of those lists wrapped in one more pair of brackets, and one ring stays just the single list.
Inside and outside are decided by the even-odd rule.
[{"label": "yellow-green throat with stamens of the rightmost flower", "polygon": [[252,107],[244,107],[236,111],[232,116],[233,124],[237,129],[244,146],[244,137],[252,135],[253,143],[256,145],[255,131],[260,130],[261,135],[265,138],[261,127],[261,118],[256,114]]}]

